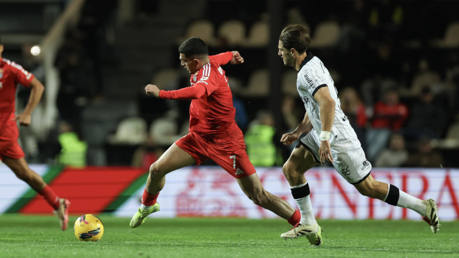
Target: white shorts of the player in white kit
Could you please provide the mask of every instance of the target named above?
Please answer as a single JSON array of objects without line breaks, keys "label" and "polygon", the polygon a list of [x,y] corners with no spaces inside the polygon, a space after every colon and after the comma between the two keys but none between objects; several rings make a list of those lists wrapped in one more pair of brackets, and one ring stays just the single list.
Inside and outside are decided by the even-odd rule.
[{"label": "white shorts of the player in white kit", "polygon": [[[315,130],[312,129],[301,138],[300,143],[313,154],[315,161],[320,163],[320,140]],[[364,150],[358,139],[348,138],[338,143],[331,142],[330,151],[333,157],[333,167],[347,182],[356,185],[369,176],[371,163],[365,158]]]}]

